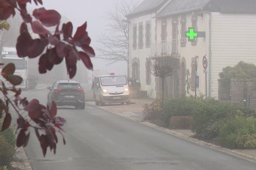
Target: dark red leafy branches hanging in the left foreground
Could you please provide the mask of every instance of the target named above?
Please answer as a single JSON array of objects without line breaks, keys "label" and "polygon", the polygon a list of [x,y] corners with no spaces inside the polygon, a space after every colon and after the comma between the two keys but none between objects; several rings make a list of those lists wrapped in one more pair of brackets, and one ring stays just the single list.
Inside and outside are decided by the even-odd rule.
[{"label": "dark red leafy branches hanging in the left foreground", "polygon": [[[36,6],[43,4],[42,0],[33,0],[33,2]],[[51,71],[54,65],[65,61],[70,79],[76,74],[77,60],[81,60],[88,69],[92,69],[90,57],[94,57],[95,53],[90,47],[90,37],[86,31],[87,23],[78,27],[73,35],[71,22],[64,23],[59,28],[61,14],[58,11],[42,7],[36,8],[32,14],[29,14],[26,6],[33,2],[32,0],[0,0],[0,20],[13,17],[17,11],[23,20],[16,43],[18,57],[40,56],[38,70],[41,74]],[[34,39],[31,36],[29,27],[32,28],[34,34],[38,34],[38,38]],[[47,27],[55,27],[55,31],[51,32]],[[13,63],[7,65],[0,63],[0,65],[3,67],[0,73],[2,79],[6,79],[13,85],[12,88],[7,88],[4,81],[0,84],[0,92],[4,96],[0,99],[0,119],[4,117],[0,130],[6,130],[10,126],[11,113],[16,113],[18,115],[17,147],[27,145],[30,130],[33,129],[40,142],[43,155],[45,156],[48,147],[55,153],[58,143],[57,132],[63,136],[64,130],[61,126],[66,122],[65,119],[57,116],[55,102],[44,106],[37,99],[28,101],[26,97],[21,97],[21,89],[15,86],[20,85],[23,79],[14,74],[15,65]],[[64,136],[63,142],[65,144]]]}]

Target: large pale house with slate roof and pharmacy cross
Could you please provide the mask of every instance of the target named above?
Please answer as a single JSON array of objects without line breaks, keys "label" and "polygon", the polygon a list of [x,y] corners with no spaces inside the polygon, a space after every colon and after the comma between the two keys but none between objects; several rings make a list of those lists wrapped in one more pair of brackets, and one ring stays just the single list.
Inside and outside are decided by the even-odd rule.
[{"label": "large pale house with slate roof and pharmacy cross", "polygon": [[[195,95],[218,97],[218,74],[240,60],[256,64],[256,1],[254,0],[144,0],[129,20],[130,75],[148,97],[160,97],[161,81],[146,70],[149,56],[167,49],[180,64],[165,81],[168,98]],[[192,27],[205,37],[189,42]],[[207,79],[203,56],[208,57]],[[198,56],[198,72],[195,72]],[[207,81],[207,85],[206,85]]]}]

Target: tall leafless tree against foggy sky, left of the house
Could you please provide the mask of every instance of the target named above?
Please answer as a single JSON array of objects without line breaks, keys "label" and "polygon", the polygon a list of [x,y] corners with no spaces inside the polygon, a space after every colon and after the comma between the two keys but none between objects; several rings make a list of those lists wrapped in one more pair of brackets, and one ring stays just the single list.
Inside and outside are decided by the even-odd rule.
[{"label": "tall leafless tree against foggy sky, left of the house", "polygon": [[128,62],[129,24],[126,16],[131,13],[141,0],[116,0],[109,8],[105,19],[109,20],[107,33],[99,37],[102,48],[98,48],[97,58],[105,59],[111,64],[118,61]]}]

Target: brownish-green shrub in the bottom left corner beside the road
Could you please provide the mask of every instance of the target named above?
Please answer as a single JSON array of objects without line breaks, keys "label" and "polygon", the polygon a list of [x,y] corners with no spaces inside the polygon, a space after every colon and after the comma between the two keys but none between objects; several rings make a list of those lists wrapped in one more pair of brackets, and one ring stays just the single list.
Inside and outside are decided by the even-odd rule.
[{"label": "brownish-green shrub in the bottom left corner beside the road", "polygon": [[15,153],[15,147],[7,142],[7,140],[0,136],[0,167],[9,165]]}]

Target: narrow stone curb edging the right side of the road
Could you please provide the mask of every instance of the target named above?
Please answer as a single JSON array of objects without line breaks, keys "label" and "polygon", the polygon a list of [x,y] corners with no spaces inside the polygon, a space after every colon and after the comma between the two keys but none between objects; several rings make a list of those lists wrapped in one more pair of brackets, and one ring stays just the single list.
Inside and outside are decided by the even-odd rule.
[{"label": "narrow stone curb edging the right side of the road", "polygon": [[[90,103],[87,103],[87,104],[92,105]],[[93,105],[93,106],[95,106],[95,105]],[[157,125],[152,124],[150,122],[143,122],[140,119],[137,119],[137,118],[132,117],[130,115],[126,115],[126,114],[119,113],[119,112],[113,112],[113,111],[110,111],[108,109],[104,109],[104,108],[99,107],[99,106],[96,106],[96,107],[97,108],[101,108],[102,110],[109,111],[111,113],[117,114],[119,116],[125,117],[125,118],[130,119],[130,120],[132,120],[134,122],[138,122],[140,124],[146,125],[148,127],[153,127],[153,128],[155,128],[157,130],[161,130],[163,132],[169,133],[169,134],[171,134],[173,136],[176,136],[176,137],[178,137],[180,139],[184,139],[186,141],[193,142],[195,144],[199,144],[201,146],[204,146],[204,147],[207,147],[207,148],[210,148],[210,149],[214,149],[214,150],[218,150],[220,152],[227,153],[227,154],[230,154],[232,156],[236,156],[236,157],[239,157],[241,159],[246,159],[248,161],[256,163],[256,157],[254,157],[254,156],[250,156],[250,155],[247,155],[247,154],[235,151],[235,150],[230,150],[230,149],[227,149],[225,147],[221,147],[221,146],[218,146],[218,145],[215,145],[215,144],[212,144],[212,143],[204,142],[204,141],[192,138],[190,136],[184,135],[182,133],[176,132],[174,130],[170,130],[170,129],[167,129],[167,128],[164,128],[164,127],[157,126]]]}]

